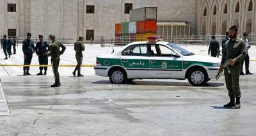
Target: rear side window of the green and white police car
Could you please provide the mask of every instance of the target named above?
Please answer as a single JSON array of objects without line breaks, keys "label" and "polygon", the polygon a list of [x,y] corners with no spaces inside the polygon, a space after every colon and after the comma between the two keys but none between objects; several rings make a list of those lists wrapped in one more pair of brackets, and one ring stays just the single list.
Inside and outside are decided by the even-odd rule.
[{"label": "rear side window of the green and white police car", "polygon": [[131,45],[122,52],[122,56],[148,56],[147,45]]}]

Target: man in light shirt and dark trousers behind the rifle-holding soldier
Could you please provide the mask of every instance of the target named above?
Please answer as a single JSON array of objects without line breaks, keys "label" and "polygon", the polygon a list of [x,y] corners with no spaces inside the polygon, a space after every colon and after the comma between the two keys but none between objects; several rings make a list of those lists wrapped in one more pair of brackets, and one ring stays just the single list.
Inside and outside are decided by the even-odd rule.
[{"label": "man in light shirt and dark trousers behind the rifle-holding soldier", "polygon": [[250,57],[249,57],[249,54],[248,54],[248,50],[250,49],[250,45],[249,45],[249,42],[248,42],[248,33],[243,33],[243,38],[241,38],[241,40],[244,41],[244,43],[246,44],[246,56],[244,58],[243,61],[241,61],[241,72],[240,72],[240,75],[244,75],[244,72],[243,72],[243,65],[244,65],[244,62],[245,62],[245,74],[246,75],[253,75],[253,73],[251,73],[249,71],[249,64],[250,64]]}]

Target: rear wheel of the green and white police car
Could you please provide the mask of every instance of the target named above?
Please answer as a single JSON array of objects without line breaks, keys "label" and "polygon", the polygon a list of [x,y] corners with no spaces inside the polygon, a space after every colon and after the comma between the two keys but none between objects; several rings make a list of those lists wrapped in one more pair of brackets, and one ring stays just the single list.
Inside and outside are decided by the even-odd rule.
[{"label": "rear wheel of the green and white police car", "polygon": [[121,68],[111,70],[109,74],[111,84],[125,84],[127,82],[127,74]]}]

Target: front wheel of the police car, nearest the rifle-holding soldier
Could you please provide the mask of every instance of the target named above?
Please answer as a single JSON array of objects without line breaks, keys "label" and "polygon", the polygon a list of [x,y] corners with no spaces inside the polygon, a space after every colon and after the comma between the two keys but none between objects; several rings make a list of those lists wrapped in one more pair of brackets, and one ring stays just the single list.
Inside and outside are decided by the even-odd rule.
[{"label": "front wheel of the police car, nearest the rifle-holding soldier", "polygon": [[195,68],[188,72],[188,81],[192,86],[203,86],[207,80],[209,81],[207,73],[200,68]]}]

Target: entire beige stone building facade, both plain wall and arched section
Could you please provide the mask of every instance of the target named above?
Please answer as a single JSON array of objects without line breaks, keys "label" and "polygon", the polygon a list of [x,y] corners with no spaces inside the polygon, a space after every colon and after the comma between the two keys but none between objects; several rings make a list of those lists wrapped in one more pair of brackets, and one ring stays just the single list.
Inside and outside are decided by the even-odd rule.
[{"label": "entire beige stone building facade, both plain wall and arched section", "polygon": [[1,0],[0,35],[25,36],[29,32],[33,36],[55,34],[74,39],[91,33],[95,40],[115,36],[115,24],[129,21],[126,4],[132,4],[131,9],[157,6],[158,22],[185,22],[191,25],[191,34],[220,35],[232,25],[239,26],[239,32],[256,34],[255,3],[256,0]]}]

